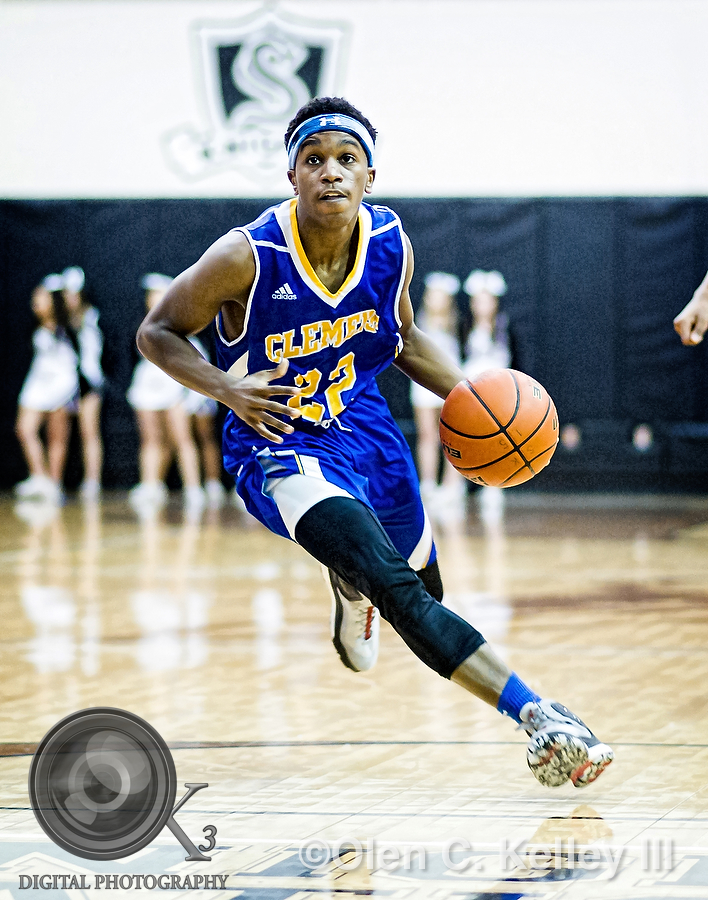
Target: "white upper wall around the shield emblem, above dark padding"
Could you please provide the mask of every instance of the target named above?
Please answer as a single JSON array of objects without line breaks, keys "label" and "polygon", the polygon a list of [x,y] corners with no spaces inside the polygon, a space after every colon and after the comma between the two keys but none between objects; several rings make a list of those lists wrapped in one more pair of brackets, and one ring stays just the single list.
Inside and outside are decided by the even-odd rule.
[{"label": "white upper wall around the shield emblem, above dark padding", "polygon": [[[229,158],[188,178],[165,149],[180,129],[211,129],[197,24],[228,25],[262,8],[0,0],[0,195],[287,193],[284,154],[269,171]],[[333,23],[330,37],[342,35],[331,90],[380,131],[380,195],[708,192],[705,0],[270,8],[294,22]]]}]

